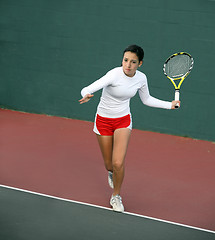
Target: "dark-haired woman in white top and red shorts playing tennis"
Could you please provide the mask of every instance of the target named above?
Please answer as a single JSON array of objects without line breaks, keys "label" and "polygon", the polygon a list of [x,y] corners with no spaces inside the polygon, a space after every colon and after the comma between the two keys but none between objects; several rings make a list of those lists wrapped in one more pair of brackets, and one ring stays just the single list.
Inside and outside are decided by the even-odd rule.
[{"label": "dark-haired woman in white top and red shorts playing tennis", "polygon": [[162,101],[150,95],[146,75],[137,69],[142,65],[144,51],[137,45],[123,52],[122,66],[106,73],[102,78],[81,90],[80,104],[88,102],[93,93],[103,89],[97,107],[94,129],[108,171],[108,183],[113,188],[110,205],[123,212],[120,196],[125,171],[125,156],[132,130],[130,99],[139,93],[143,104],[150,107],[175,109],[180,101]]}]

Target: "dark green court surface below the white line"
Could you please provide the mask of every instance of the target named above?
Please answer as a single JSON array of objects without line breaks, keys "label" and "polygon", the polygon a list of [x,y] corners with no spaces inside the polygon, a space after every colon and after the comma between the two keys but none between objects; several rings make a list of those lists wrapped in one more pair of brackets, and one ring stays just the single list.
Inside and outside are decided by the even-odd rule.
[{"label": "dark green court surface below the white line", "polygon": [[0,194],[2,240],[215,239],[209,232],[5,187]]}]

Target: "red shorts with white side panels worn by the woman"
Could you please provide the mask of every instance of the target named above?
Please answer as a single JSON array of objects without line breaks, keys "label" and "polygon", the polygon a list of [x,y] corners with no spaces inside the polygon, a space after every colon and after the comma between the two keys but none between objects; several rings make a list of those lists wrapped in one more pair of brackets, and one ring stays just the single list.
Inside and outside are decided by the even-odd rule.
[{"label": "red shorts with white side panels worn by the woman", "polygon": [[112,136],[114,131],[119,128],[132,129],[131,115],[128,114],[120,118],[106,118],[96,115],[94,129],[96,134],[104,136]]}]

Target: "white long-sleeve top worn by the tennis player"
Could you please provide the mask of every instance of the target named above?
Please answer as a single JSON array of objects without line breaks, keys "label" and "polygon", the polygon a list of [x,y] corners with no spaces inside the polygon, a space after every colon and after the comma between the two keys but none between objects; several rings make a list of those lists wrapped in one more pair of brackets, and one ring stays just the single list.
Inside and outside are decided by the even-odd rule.
[{"label": "white long-sleeve top worn by the tennis player", "polygon": [[146,75],[136,71],[133,77],[124,74],[122,67],[116,67],[103,77],[81,90],[81,95],[93,94],[103,89],[97,114],[102,117],[118,118],[130,114],[130,99],[139,93],[143,104],[150,107],[171,109],[172,103],[150,95]]}]

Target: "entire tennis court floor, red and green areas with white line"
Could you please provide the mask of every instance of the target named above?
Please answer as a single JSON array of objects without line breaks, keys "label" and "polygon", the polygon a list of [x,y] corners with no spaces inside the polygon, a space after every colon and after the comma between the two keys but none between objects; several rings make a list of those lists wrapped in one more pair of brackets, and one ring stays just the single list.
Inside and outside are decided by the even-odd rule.
[{"label": "entire tennis court floor, red and green areas with white line", "polygon": [[215,239],[215,144],[133,130],[122,197],[92,123],[0,110],[0,239]]}]

